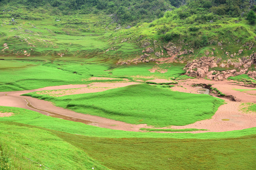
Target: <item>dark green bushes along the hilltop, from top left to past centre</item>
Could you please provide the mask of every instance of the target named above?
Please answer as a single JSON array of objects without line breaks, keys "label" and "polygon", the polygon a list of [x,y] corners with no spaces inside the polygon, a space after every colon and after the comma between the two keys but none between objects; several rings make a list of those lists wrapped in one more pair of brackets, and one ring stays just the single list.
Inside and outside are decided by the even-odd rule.
[{"label": "dark green bushes along the hilltop, from top left to past centre", "polygon": [[[185,0],[181,0],[185,1]],[[55,8],[57,13],[70,15],[78,11],[82,14],[113,14],[118,23],[151,22],[157,17],[163,17],[171,5],[179,7],[177,0],[2,0],[2,4],[24,5],[28,9]]]}]

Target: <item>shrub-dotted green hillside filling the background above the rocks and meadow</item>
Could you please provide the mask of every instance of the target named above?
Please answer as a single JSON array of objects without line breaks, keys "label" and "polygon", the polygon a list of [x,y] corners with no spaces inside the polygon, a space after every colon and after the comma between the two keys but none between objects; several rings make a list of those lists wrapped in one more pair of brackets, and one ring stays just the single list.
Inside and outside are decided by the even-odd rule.
[{"label": "shrub-dotted green hillside filling the background above the rocks and meadow", "polygon": [[[246,17],[248,8],[256,8],[248,0],[191,0],[175,8],[184,2],[1,0],[0,43],[7,43],[9,49],[0,51],[0,56],[26,53],[73,59],[129,59],[141,55],[145,46],[161,51],[173,42],[181,50],[194,49],[193,58],[201,57],[206,50],[211,52],[212,48],[216,48],[214,55],[224,57],[225,52],[238,52],[247,42],[255,42],[255,27],[249,25]],[[126,29],[128,26],[132,27]],[[223,46],[218,46],[218,42]],[[255,50],[250,45],[242,47],[244,55]],[[190,58],[184,56],[184,60]]]}]

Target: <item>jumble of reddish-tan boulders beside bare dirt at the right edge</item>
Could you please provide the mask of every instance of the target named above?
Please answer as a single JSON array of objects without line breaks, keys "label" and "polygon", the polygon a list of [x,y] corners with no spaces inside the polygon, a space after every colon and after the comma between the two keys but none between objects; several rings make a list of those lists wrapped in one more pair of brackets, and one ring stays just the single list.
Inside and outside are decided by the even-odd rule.
[{"label": "jumble of reddish-tan boulders beside bare dirt at the right edge", "polygon": [[[202,57],[200,59],[194,59],[188,62],[185,66],[186,75],[193,77],[205,77],[207,76],[211,80],[224,80],[230,76],[238,76],[241,74],[247,74],[251,77],[256,77],[256,71],[248,71],[248,68],[253,64],[256,64],[256,53],[247,57],[239,59],[228,59],[220,63],[220,58],[215,57]],[[230,69],[230,67],[232,68]],[[221,67],[226,68],[225,71],[216,71],[210,68]]]}]

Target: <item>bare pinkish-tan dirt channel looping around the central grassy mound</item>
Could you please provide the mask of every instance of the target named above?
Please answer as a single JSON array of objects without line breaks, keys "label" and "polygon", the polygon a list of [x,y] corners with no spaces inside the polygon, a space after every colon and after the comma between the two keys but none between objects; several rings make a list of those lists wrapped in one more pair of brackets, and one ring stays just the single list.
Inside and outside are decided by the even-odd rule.
[{"label": "bare pinkish-tan dirt channel looping around the central grassy mound", "polygon": [[[222,93],[232,94],[239,102],[231,102],[225,99],[226,104],[221,105],[212,119],[201,120],[186,126],[172,126],[173,129],[198,128],[208,129],[208,131],[193,131],[189,133],[202,132],[223,132],[231,130],[241,130],[250,127],[256,127],[256,113],[244,113],[240,111],[241,103],[256,102],[256,95],[240,92],[234,89],[252,90],[255,88],[238,86],[230,81],[210,81],[205,79],[189,79],[178,81],[178,86],[173,87],[175,91],[186,93],[200,93],[201,87],[192,87],[193,84],[213,84]],[[17,91],[17,92],[0,92],[0,106],[20,107],[28,110],[34,110],[47,116],[66,119],[76,122],[82,122],[88,125],[104,127],[126,131],[140,131],[140,128],[154,128],[146,124],[133,125],[121,121],[92,116],[88,114],[77,113],[72,110],[56,107],[51,102],[39,100],[29,96],[20,96],[24,93],[31,93],[43,90],[56,90],[54,92],[44,92],[47,94],[62,96],[77,93],[95,93],[111,88],[124,87],[127,85],[138,84],[135,82],[122,83],[94,83],[90,85],[61,85],[51,86],[35,90]],[[165,127],[167,128],[167,127]],[[170,128],[170,127],[168,127]],[[176,133],[176,132],[159,132],[159,133]],[[184,132],[183,132],[184,133]]]}]

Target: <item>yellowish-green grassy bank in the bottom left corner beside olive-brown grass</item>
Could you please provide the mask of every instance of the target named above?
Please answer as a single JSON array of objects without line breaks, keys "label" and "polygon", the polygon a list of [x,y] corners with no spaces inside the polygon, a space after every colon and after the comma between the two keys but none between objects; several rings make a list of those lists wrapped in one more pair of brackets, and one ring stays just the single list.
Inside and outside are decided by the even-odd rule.
[{"label": "yellowish-green grassy bank in the bottom left corner beside olive-brown grass", "polygon": [[41,164],[43,169],[51,170],[89,170],[92,167],[108,170],[49,130],[1,122],[0,134],[0,144],[11,159],[13,169],[38,170]]}]

